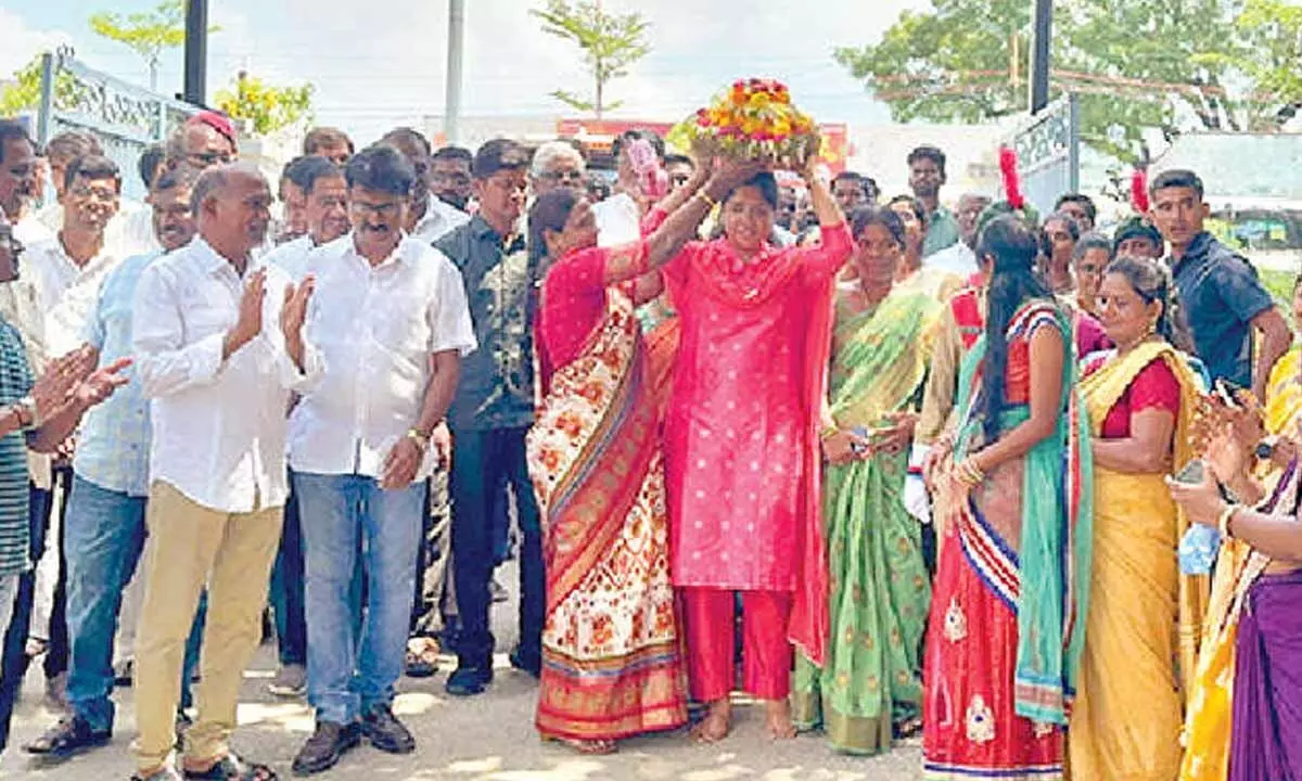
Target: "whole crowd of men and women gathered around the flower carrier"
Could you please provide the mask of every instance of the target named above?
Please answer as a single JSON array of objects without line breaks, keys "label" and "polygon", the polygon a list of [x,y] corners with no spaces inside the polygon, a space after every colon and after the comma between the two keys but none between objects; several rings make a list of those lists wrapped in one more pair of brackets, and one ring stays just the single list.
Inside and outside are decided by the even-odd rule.
[{"label": "whole crowd of men and women gathered around the flower carrier", "polygon": [[273,635],[294,774],[413,752],[400,679],[492,686],[516,557],[510,666],[583,754],[724,741],[740,689],[927,778],[1302,778],[1298,351],[1194,172],[1105,234],[950,211],[935,147],[889,199],[648,131],[611,191],[566,141],[302,151],[273,195],[214,112],[138,172],[0,121],[5,742],[42,659],[27,752],[128,679],[134,778],[275,778],[230,748]]}]

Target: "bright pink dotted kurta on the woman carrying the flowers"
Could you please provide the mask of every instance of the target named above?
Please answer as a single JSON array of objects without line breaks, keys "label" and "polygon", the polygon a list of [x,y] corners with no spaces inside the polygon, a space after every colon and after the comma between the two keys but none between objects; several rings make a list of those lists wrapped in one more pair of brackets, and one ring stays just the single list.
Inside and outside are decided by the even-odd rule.
[{"label": "bright pink dotted kurta on the woman carrying the flowers", "polygon": [[811,366],[809,345],[825,355],[827,335],[811,332],[829,327],[829,284],[852,247],[842,225],[819,246],[769,247],[750,264],[725,241],[694,242],[665,268],[682,323],[665,422],[674,586],[793,591],[803,581],[814,377],[825,368]]}]

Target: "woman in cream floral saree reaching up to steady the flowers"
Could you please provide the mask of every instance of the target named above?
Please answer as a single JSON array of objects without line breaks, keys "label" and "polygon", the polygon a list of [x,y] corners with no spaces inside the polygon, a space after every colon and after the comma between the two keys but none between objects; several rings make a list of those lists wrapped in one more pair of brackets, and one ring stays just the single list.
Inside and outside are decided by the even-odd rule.
[{"label": "woman in cream floral saree reaching up to steady the flowers", "polygon": [[656,269],[694,236],[707,200],[756,169],[727,165],[707,184],[702,167],[665,200],[663,224],[622,247],[596,247],[590,204],[572,190],[530,211],[530,249],[551,264],[536,319],[546,397],[529,435],[547,570],[536,724],[586,754],[687,717],[663,406],[634,307],[659,292]]}]

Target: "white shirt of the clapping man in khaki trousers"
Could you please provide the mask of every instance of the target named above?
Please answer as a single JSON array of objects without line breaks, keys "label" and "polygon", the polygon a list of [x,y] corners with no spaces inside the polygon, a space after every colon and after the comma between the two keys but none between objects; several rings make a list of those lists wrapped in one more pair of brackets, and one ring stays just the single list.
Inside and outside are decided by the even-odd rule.
[{"label": "white shirt of the clapping man in khaki trousers", "polygon": [[285,409],[302,380],[280,332],[286,285],[267,268],[262,332],[223,361],[243,294],[234,267],[197,237],[141,273],[133,341],[152,400],[151,482],[225,513],[285,504]]}]

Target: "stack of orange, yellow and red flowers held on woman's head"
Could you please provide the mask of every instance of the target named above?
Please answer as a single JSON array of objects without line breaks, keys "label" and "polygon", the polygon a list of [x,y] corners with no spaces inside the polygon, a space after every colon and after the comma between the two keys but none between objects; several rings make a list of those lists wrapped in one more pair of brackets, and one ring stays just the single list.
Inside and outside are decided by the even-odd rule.
[{"label": "stack of orange, yellow and red flowers held on woman's head", "polygon": [[819,154],[818,126],[792,103],[786,85],[751,78],[733,82],[684,122],[693,146],[716,155],[767,159],[803,169]]}]

